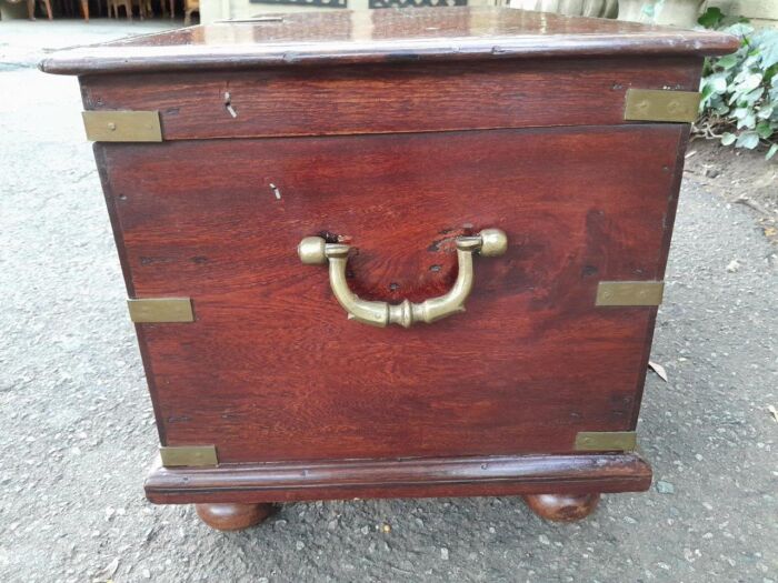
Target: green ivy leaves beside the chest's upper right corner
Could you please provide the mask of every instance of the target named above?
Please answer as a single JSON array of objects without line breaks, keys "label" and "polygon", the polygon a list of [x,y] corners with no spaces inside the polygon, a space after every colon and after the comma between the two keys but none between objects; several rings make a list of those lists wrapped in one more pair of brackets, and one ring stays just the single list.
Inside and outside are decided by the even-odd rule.
[{"label": "green ivy leaves beside the chest's upper right corner", "polygon": [[[712,9],[711,9],[712,10]],[[708,10],[700,23],[741,39],[737,52],[709,59],[700,91],[696,130],[725,145],[778,152],[778,30],[756,30],[747,21],[727,22]]]}]

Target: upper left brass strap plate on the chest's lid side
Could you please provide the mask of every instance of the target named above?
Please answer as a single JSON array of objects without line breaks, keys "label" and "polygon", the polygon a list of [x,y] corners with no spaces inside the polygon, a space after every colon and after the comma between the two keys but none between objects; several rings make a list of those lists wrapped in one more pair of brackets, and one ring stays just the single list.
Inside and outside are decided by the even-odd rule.
[{"label": "upper left brass strap plate on the chest's lid side", "polygon": [[161,142],[159,111],[84,111],[87,139],[93,142]]}]

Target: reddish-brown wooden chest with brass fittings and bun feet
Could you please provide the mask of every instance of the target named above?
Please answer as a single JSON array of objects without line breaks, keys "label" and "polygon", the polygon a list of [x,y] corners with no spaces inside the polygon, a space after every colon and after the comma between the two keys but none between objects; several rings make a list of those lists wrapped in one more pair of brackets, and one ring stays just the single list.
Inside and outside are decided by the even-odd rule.
[{"label": "reddish-brown wooden chest with brass fittings and bun feet", "polygon": [[702,57],[735,48],[461,8],[44,61],[79,76],[97,142],[161,443],[149,500],[236,529],[377,496],[571,520],[647,489],[682,154]]}]

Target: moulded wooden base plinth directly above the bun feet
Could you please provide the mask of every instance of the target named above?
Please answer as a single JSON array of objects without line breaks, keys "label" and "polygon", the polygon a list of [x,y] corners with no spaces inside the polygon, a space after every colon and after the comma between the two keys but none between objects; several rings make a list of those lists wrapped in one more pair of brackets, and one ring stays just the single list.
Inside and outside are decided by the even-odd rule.
[{"label": "moulded wooden base plinth directly above the bun feet", "polygon": [[310,463],[156,466],[158,504],[292,502],[352,497],[639,492],[651,470],[637,454],[526,455]]}]

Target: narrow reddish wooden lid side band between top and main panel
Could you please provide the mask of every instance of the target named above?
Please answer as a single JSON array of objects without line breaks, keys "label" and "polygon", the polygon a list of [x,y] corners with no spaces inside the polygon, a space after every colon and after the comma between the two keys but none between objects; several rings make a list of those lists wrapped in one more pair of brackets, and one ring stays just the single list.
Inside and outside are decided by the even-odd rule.
[{"label": "narrow reddish wooden lid side band between top and main panel", "polygon": [[164,140],[189,140],[634,123],[624,120],[628,89],[697,91],[701,66],[694,57],[406,63],[81,83],[86,109],[159,111]]}]

